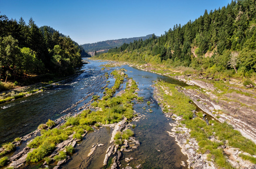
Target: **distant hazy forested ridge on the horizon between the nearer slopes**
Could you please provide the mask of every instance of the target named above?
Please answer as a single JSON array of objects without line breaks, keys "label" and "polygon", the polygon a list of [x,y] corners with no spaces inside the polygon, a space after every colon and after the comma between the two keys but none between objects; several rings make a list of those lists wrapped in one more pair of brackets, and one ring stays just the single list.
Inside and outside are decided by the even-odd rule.
[{"label": "distant hazy forested ridge on the horizon between the nearer slopes", "polygon": [[152,36],[152,34],[146,35],[146,37],[123,38],[123,39],[102,41],[102,42],[97,42],[97,43],[87,43],[87,44],[84,44],[81,46],[87,52],[95,52],[95,51],[109,50],[110,48],[120,47],[123,45],[123,43],[131,43],[134,41],[138,41],[140,39],[142,39],[144,41],[145,39],[148,39],[151,36]]}]

